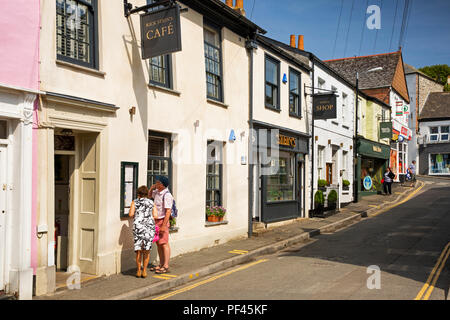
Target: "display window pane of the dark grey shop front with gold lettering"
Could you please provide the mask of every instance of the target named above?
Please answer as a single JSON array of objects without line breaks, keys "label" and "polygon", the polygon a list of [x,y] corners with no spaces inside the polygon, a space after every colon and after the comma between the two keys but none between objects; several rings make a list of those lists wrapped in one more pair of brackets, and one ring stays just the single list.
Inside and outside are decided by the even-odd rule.
[{"label": "display window pane of the dark grey shop front with gold lettering", "polygon": [[270,166],[276,174],[267,177],[267,202],[295,200],[294,154],[281,152]]}]

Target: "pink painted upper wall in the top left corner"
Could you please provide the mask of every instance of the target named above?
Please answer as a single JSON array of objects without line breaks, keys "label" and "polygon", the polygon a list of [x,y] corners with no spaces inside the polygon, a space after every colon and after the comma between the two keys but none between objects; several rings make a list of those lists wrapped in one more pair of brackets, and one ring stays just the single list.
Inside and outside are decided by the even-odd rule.
[{"label": "pink painted upper wall in the top left corner", "polygon": [[39,0],[0,1],[0,83],[39,89]]}]

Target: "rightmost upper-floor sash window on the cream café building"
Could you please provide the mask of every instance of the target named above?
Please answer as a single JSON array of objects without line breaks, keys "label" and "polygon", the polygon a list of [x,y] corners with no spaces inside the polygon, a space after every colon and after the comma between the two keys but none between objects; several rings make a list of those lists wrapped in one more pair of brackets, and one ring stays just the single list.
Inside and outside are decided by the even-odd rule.
[{"label": "rightmost upper-floor sash window on the cream caf\u00e9 building", "polygon": [[209,99],[223,101],[220,30],[210,25],[205,25],[203,38],[206,67],[206,96]]}]

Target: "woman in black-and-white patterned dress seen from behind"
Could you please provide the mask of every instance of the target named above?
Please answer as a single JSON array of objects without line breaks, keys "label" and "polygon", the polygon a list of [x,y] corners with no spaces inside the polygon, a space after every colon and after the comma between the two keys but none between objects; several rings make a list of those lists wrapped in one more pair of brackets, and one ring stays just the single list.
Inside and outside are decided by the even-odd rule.
[{"label": "woman in black-and-white patterned dress seen from behind", "polygon": [[[148,198],[148,188],[141,186],[137,190],[138,198],[131,202],[130,218],[133,221],[134,251],[136,252],[136,277],[147,277],[150,249],[155,237],[153,219],[153,201]],[[142,269],[141,269],[142,267]]]}]

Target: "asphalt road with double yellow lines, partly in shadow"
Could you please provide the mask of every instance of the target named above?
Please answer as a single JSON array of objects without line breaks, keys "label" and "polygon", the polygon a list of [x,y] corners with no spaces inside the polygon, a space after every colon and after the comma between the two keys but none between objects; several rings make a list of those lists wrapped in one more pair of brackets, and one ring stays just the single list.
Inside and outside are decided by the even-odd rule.
[{"label": "asphalt road with double yellow lines, partly in shadow", "polygon": [[147,299],[443,300],[449,243],[450,180],[427,179],[387,212]]}]

